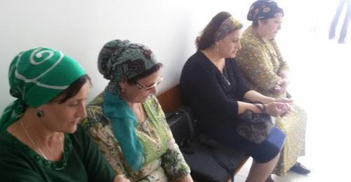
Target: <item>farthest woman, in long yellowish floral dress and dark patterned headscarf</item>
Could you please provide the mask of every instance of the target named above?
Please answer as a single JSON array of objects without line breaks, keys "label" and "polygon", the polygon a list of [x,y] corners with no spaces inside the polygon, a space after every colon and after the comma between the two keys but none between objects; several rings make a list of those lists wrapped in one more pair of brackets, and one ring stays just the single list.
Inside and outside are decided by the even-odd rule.
[{"label": "farthest woman, in long yellowish floral dress and dark patterned headscarf", "polygon": [[[289,85],[289,66],[274,39],[281,29],[283,16],[282,8],[274,1],[254,2],[247,15],[252,25],[244,31],[242,48],[237,54],[237,64],[246,85],[276,99],[286,98]],[[310,170],[296,163],[298,157],[305,153],[305,111],[293,105],[288,115],[277,117],[276,125],[286,134],[286,142],[274,174],[284,176],[289,169],[300,174],[310,173]]]}]

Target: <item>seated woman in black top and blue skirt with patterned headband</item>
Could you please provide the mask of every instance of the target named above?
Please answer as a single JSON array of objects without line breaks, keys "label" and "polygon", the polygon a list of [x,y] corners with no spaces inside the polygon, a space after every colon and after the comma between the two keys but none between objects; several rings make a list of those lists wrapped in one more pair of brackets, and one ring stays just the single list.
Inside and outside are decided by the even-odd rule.
[{"label": "seated woman in black top and blue skirt with patterned headband", "polygon": [[183,102],[194,112],[199,132],[250,155],[255,162],[247,181],[265,181],[277,163],[285,136],[273,127],[265,141],[255,144],[237,134],[236,118],[247,109],[261,113],[243,99],[263,102],[272,116],[289,112],[286,102],[290,100],[265,97],[244,85],[233,59],[241,48],[241,27],[227,12],[212,18],[197,38],[197,52],[183,67],[180,91]]}]

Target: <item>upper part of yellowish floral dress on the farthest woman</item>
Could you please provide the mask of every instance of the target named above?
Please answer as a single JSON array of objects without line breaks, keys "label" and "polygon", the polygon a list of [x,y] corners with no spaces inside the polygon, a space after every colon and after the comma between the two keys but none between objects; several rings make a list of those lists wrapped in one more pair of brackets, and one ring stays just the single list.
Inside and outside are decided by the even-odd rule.
[{"label": "upper part of yellowish floral dress on the farthest woman", "polygon": [[246,84],[261,94],[277,97],[272,92],[280,80],[277,74],[289,70],[277,43],[274,39],[264,41],[249,27],[241,38],[241,46],[235,59]]}]

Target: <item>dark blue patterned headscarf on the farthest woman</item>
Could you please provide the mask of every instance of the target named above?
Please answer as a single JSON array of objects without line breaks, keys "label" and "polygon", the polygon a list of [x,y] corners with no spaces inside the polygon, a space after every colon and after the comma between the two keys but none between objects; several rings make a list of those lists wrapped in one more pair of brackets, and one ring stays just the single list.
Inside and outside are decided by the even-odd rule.
[{"label": "dark blue patterned headscarf on the farthest woman", "polygon": [[277,16],[284,16],[284,11],[275,1],[258,0],[254,2],[247,13],[247,20],[265,20]]}]

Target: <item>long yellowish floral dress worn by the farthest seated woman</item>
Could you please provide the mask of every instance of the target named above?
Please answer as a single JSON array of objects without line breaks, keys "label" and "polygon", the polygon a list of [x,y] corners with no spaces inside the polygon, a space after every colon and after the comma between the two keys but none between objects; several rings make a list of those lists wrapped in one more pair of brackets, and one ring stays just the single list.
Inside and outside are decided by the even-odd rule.
[{"label": "long yellowish floral dress worn by the farthest seated woman", "polygon": [[[265,41],[249,27],[243,33],[241,46],[236,59],[246,85],[268,97],[286,97],[271,91],[280,79],[279,71],[289,71],[274,39]],[[305,111],[296,104],[287,116],[276,118],[275,125],[286,134],[286,141],[274,174],[286,175],[298,157],[305,155],[306,121]]]}]

